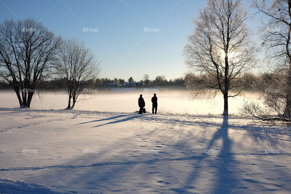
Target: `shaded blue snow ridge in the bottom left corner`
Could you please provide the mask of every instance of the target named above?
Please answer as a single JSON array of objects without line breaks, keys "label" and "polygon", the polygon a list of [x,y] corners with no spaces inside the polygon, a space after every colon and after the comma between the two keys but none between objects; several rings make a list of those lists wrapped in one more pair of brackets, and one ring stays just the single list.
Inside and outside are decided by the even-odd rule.
[{"label": "shaded blue snow ridge in the bottom left corner", "polygon": [[[37,183],[27,183],[11,179],[0,179],[0,193],[19,193],[22,194],[72,194],[72,192],[56,191],[44,185]],[[76,193],[76,192],[74,192]]]}]

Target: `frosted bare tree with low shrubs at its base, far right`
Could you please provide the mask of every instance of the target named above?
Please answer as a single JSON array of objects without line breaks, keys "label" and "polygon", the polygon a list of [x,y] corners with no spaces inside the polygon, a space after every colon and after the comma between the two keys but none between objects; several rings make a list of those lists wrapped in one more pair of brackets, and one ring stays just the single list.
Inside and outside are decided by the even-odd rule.
[{"label": "frosted bare tree with low shrubs at its base, far right", "polygon": [[[253,0],[252,6],[261,15],[260,34],[266,50],[266,62],[274,75],[272,82],[265,85],[272,88],[263,95],[264,107],[256,102],[246,102],[243,113],[264,121],[291,121],[291,1]],[[266,22],[264,22],[266,21]],[[276,114],[276,117],[270,115]]]}]

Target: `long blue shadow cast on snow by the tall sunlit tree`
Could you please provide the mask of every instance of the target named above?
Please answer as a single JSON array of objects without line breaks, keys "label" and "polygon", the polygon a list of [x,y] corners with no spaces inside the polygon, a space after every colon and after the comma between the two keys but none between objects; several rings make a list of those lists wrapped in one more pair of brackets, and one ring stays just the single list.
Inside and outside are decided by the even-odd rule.
[{"label": "long blue shadow cast on snow by the tall sunlit tree", "polygon": [[[207,186],[207,183],[204,182],[203,184],[206,184],[207,189],[211,189],[212,191],[210,193],[214,194],[225,194],[225,193],[232,193],[234,189],[236,189],[237,186],[241,183],[241,180],[238,176],[235,174],[236,170],[236,162],[233,159],[231,153],[232,148],[232,142],[231,139],[228,137],[228,116],[223,117],[222,125],[212,136],[212,139],[210,140],[207,149],[205,149],[204,153],[202,155],[214,155],[215,161],[209,163],[207,169],[203,166],[203,163],[206,161],[203,161],[206,158],[200,158],[199,161],[196,163],[197,166],[194,167],[193,171],[189,174],[187,177],[187,180],[185,181],[185,185],[199,185],[199,174],[200,171],[210,171],[209,172],[209,179],[207,179],[207,182],[210,184]],[[222,141],[221,143],[219,142]],[[222,144],[222,145],[221,145]],[[215,149],[214,146],[221,146],[220,149]],[[207,150],[207,151],[206,151]],[[216,156],[217,154],[217,156]],[[204,163],[205,164],[205,163]],[[243,185],[244,186],[244,185]],[[177,188],[178,189],[178,188]],[[179,190],[183,190],[186,188],[179,188]],[[176,191],[174,191],[181,193]],[[234,192],[235,193],[235,192]]]}]

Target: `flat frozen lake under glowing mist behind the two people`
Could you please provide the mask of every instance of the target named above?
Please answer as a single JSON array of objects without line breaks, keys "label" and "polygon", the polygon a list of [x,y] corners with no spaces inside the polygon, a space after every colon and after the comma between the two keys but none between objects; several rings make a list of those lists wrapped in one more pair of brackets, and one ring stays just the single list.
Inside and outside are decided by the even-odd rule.
[{"label": "flat frozen lake under glowing mist behind the two people", "polygon": [[[157,93],[158,111],[178,114],[222,114],[223,97],[217,96],[212,100],[190,99],[189,91],[161,90]],[[138,98],[142,94],[146,102],[146,110],[151,111],[151,98],[153,92],[144,92],[143,89],[111,89],[109,92],[96,92],[87,96],[86,100],[76,103],[75,110],[109,111],[109,112],[135,112],[138,108]],[[248,98],[255,95],[248,94]],[[0,107],[18,108],[18,100],[14,91],[0,92]],[[229,99],[229,113],[237,113],[245,97],[240,96]],[[66,92],[42,93],[41,98],[35,95],[31,109],[65,109],[68,95]]]}]

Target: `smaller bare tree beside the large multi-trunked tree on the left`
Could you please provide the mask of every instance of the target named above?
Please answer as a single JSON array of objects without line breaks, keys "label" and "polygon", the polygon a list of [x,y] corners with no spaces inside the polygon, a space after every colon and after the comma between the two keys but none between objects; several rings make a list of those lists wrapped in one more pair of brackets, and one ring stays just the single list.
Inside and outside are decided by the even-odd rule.
[{"label": "smaller bare tree beside the large multi-trunked tree on the left", "polygon": [[[59,53],[59,63],[56,67],[59,74],[67,79],[68,106],[73,109],[76,102],[83,100],[79,95],[86,95],[94,92],[88,88],[94,83],[100,74],[100,62],[83,41],[76,39],[65,39]],[[71,105],[72,102],[72,105]]]}]

